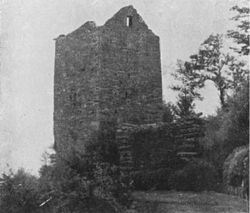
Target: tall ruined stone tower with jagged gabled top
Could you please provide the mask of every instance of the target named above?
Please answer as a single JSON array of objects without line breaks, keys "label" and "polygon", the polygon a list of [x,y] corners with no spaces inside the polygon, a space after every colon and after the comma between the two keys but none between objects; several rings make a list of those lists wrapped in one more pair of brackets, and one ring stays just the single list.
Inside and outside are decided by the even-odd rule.
[{"label": "tall ruined stone tower with jagged gabled top", "polygon": [[103,121],[161,120],[159,37],[132,7],[103,26],[86,22],[56,39],[54,136],[58,149],[81,144]]}]

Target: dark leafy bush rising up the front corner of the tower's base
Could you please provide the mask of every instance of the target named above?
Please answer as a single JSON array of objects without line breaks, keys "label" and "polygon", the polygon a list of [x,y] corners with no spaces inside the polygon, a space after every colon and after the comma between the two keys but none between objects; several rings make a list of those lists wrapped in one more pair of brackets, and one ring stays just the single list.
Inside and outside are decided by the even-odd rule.
[{"label": "dark leafy bush rising up the front corner of the tower's base", "polygon": [[114,125],[102,122],[100,130],[85,142],[84,151],[72,145],[67,152],[56,154],[52,175],[48,175],[58,212],[102,212],[103,205],[107,212],[117,212],[128,203],[129,186],[118,167]]}]

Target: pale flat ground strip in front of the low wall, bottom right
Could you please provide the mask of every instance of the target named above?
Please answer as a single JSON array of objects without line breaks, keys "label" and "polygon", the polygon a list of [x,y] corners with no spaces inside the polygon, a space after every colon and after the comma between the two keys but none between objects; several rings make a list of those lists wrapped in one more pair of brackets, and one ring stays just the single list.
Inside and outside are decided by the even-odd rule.
[{"label": "pale flat ground strip in front of the low wall, bottom right", "polygon": [[138,213],[247,213],[248,204],[236,196],[215,192],[134,192]]}]

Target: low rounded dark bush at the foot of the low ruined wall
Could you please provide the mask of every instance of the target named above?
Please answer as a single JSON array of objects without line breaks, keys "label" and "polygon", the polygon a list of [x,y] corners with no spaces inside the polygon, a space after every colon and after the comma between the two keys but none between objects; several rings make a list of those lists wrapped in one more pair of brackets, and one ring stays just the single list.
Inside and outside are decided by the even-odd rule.
[{"label": "low rounded dark bush at the foot of the low ruined wall", "polygon": [[171,189],[182,191],[215,190],[216,180],[214,166],[204,160],[193,159],[170,176],[169,185]]}]

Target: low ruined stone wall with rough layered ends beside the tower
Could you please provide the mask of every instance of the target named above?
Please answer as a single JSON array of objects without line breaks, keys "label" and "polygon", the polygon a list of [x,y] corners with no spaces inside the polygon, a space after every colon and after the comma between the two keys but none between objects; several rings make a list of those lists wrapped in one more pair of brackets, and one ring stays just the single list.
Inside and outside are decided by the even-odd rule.
[{"label": "low ruined stone wall with rough layered ends beside the tower", "polygon": [[[152,130],[154,130],[152,134]],[[150,132],[150,137],[145,137],[145,133]],[[143,135],[141,134],[143,132]],[[134,137],[139,135],[138,137]],[[204,126],[199,117],[187,117],[179,119],[174,123],[155,123],[146,125],[122,124],[117,129],[116,141],[120,152],[120,165],[123,172],[129,173],[136,171],[138,168],[164,168],[160,165],[159,160],[157,165],[153,165],[150,156],[161,157],[161,153],[166,153],[168,149],[175,149],[176,156],[183,160],[188,160],[192,157],[199,157],[201,153],[200,139],[204,136]],[[156,144],[160,147],[152,147],[146,149],[145,159],[141,159],[141,166],[138,166],[138,159],[134,159],[133,143],[141,140],[144,144]],[[141,152],[144,152],[141,149]],[[156,153],[155,153],[156,152]],[[158,155],[157,155],[158,152]],[[143,156],[144,153],[141,153]]]}]

